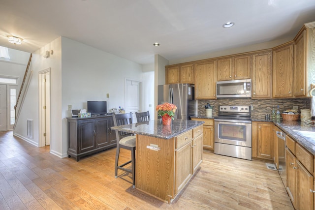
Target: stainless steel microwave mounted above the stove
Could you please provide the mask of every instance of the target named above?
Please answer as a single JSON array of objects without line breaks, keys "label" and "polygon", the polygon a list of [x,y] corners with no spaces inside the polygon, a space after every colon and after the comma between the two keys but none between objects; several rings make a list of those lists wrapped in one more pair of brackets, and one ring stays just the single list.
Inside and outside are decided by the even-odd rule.
[{"label": "stainless steel microwave mounted above the stove", "polygon": [[252,80],[229,80],[217,82],[217,98],[252,97]]}]

